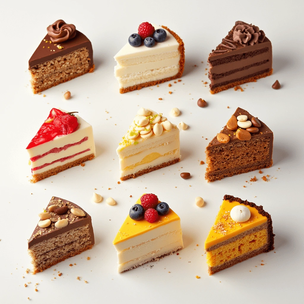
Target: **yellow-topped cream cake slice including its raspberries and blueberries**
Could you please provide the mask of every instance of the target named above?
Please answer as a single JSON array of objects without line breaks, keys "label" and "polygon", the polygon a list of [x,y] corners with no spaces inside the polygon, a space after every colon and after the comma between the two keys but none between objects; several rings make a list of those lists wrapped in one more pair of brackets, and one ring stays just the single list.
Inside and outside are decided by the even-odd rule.
[{"label": "yellow-topped cream cake slice including its raspberries and blueberries", "polygon": [[144,194],[130,209],[113,245],[118,272],[130,270],[184,247],[179,216],[154,194]]}]

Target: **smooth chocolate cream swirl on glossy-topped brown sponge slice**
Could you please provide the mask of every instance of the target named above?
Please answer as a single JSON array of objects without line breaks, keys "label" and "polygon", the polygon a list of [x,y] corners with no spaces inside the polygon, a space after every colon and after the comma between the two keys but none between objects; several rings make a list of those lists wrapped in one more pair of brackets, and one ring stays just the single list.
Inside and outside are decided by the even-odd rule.
[{"label": "smooth chocolate cream swirl on glossy-topped brown sponge slice", "polygon": [[64,42],[75,37],[76,27],[74,24],[66,24],[63,20],[57,20],[47,27],[47,33],[52,42]]}]

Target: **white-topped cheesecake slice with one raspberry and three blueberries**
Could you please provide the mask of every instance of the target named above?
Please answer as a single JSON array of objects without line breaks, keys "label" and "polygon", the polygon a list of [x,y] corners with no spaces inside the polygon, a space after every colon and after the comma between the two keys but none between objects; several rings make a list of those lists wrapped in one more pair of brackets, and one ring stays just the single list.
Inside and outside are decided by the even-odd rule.
[{"label": "white-topped cheesecake slice with one raspberry and three blueberries", "polygon": [[126,93],[180,78],[185,48],[181,38],[166,26],[144,22],[114,59],[119,92]]}]

